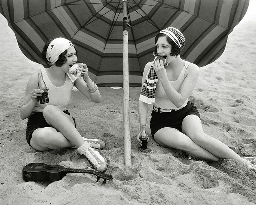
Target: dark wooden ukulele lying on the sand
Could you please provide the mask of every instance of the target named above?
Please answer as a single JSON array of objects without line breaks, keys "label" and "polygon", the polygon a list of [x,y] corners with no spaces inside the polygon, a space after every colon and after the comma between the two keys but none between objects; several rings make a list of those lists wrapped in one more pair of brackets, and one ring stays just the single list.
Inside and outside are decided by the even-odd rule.
[{"label": "dark wooden ukulele lying on the sand", "polygon": [[22,169],[22,178],[28,182],[36,182],[36,181],[50,181],[55,182],[62,177],[64,177],[67,173],[86,173],[86,174],[94,174],[97,176],[97,182],[100,178],[104,179],[102,184],[106,184],[106,179],[113,179],[112,175],[100,173],[98,171],[92,169],[71,169],[65,168],[60,165],[52,166],[43,163],[31,163],[27,164]]}]

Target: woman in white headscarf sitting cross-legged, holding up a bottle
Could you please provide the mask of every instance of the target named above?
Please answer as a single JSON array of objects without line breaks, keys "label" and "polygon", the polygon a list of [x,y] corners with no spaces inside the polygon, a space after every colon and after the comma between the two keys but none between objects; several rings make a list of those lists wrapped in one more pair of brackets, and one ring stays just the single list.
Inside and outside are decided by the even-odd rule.
[{"label": "woman in white headscarf sitting cross-legged, holding up a bottle", "polygon": [[[38,151],[78,147],[77,151],[83,154],[97,171],[105,171],[106,160],[93,149],[104,148],[105,142],[82,137],[75,128],[75,119],[67,111],[73,86],[93,102],[101,102],[98,87],[90,79],[86,64],[78,63],[77,70],[82,71],[83,78],[69,73],[71,66],[77,63],[77,50],[73,43],[65,38],[49,40],[43,48],[42,58],[47,64],[51,64],[51,67],[41,69],[30,77],[20,107],[22,120],[28,118],[28,144]],[[49,89],[49,102],[45,104],[39,102],[43,93],[43,90],[38,88],[39,73],[43,75]]]}]

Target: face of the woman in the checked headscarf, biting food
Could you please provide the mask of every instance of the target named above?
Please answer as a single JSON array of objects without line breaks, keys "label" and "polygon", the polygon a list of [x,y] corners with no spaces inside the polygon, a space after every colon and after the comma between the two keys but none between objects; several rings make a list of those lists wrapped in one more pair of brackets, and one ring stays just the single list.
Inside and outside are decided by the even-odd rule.
[{"label": "face of the woman in the checked headscarf, biting food", "polygon": [[168,62],[171,62],[174,59],[174,56],[170,56],[172,45],[168,43],[167,36],[159,36],[155,46],[159,56],[166,58]]}]

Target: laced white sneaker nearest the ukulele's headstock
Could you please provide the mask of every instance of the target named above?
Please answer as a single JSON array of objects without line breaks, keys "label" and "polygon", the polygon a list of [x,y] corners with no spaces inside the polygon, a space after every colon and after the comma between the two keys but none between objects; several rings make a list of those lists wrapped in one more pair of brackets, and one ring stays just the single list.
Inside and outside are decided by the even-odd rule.
[{"label": "laced white sneaker nearest the ukulele's headstock", "polygon": [[95,151],[93,148],[89,147],[85,152],[84,156],[90,161],[93,167],[99,171],[104,172],[107,169],[107,162],[99,154],[99,152]]}]

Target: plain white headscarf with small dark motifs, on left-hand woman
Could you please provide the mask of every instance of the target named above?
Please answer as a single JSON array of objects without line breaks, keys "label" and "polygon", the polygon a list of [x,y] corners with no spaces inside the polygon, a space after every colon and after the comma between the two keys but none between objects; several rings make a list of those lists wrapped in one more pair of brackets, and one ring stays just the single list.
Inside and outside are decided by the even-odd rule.
[{"label": "plain white headscarf with small dark motifs, on left-hand woman", "polygon": [[46,51],[46,58],[52,64],[55,64],[59,58],[60,53],[63,53],[69,47],[74,46],[71,41],[66,38],[55,38],[49,43]]}]

